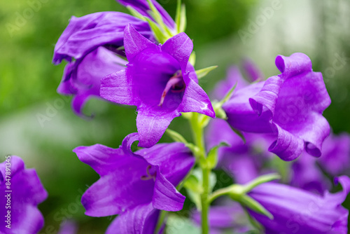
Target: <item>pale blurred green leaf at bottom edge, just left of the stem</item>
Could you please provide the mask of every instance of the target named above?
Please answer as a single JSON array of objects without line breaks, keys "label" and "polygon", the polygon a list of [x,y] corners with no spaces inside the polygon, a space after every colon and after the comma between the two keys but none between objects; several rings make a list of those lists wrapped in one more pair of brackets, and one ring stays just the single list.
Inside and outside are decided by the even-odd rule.
[{"label": "pale blurred green leaf at bottom edge, just left of the stem", "polygon": [[201,230],[199,226],[196,226],[193,221],[185,216],[179,216],[176,214],[169,215],[167,219],[167,234],[200,234]]}]

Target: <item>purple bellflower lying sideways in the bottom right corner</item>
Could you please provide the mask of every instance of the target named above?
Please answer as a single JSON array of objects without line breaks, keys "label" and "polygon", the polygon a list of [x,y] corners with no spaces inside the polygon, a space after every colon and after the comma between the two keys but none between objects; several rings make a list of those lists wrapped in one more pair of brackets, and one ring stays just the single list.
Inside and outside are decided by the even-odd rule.
[{"label": "purple bellflower lying sideways in the bottom right corner", "polygon": [[342,207],[342,202],[350,191],[350,179],[342,176],[337,181],[342,184],[343,191],[326,191],[323,196],[283,184],[261,184],[248,195],[271,212],[274,219],[251,210],[249,213],[269,234],[346,234],[349,211]]}]

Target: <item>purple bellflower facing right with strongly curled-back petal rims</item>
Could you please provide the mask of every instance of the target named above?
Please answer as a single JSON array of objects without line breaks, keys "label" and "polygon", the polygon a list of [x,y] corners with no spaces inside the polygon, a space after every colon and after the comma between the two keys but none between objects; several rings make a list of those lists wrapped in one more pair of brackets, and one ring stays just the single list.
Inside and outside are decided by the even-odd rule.
[{"label": "purple bellflower facing right with strongly curled-back petal rims", "polygon": [[269,151],[283,160],[297,158],[304,149],[319,157],[330,132],[322,116],[330,104],[322,74],[312,71],[302,53],[277,56],[276,67],[279,76],[237,90],[223,105],[228,123],[245,132],[274,133]]}]

